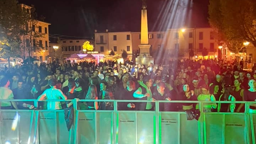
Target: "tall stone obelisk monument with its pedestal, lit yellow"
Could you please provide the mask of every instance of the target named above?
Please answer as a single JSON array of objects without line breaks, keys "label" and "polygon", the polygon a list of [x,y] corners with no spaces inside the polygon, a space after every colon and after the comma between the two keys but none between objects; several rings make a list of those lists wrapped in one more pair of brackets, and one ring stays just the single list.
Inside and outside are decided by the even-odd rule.
[{"label": "tall stone obelisk monument with its pedestal, lit yellow", "polygon": [[141,17],[141,32],[140,32],[140,55],[136,58],[136,64],[145,64],[149,63],[154,64],[154,58],[149,54],[149,42],[148,42],[148,17],[146,10],[146,0],[142,0],[142,17]]}]

